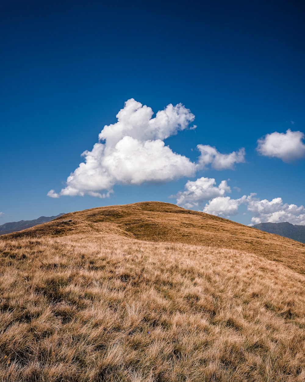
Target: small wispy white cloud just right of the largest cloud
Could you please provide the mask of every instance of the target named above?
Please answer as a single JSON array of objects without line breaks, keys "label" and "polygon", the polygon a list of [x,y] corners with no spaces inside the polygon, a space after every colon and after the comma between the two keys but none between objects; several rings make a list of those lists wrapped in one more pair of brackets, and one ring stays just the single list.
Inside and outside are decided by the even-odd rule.
[{"label": "small wispy white cloud just right of the largest cloud", "polygon": [[200,151],[199,168],[205,168],[210,164],[215,170],[232,170],[235,163],[245,162],[245,149],[243,147],[230,154],[221,154],[215,147],[209,145],[198,144],[197,148]]}]

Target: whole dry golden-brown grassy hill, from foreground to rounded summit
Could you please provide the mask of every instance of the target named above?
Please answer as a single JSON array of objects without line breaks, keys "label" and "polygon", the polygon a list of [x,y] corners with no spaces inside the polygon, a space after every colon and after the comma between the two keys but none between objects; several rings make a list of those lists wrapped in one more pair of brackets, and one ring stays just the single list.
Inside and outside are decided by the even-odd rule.
[{"label": "whole dry golden-brown grassy hill, from foreground to rounded summit", "polygon": [[304,257],[161,202],[0,236],[0,380],[303,382]]}]

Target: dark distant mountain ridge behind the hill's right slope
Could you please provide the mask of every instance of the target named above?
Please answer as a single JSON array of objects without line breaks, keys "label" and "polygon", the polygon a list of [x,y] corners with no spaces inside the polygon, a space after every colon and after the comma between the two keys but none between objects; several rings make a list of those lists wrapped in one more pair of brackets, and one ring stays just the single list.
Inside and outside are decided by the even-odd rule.
[{"label": "dark distant mountain ridge behind the hill's right slope", "polygon": [[288,222],[284,223],[259,223],[253,225],[261,231],[276,233],[276,235],[285,236],[286,238],[305,243],[305,225],[293,225]]}]

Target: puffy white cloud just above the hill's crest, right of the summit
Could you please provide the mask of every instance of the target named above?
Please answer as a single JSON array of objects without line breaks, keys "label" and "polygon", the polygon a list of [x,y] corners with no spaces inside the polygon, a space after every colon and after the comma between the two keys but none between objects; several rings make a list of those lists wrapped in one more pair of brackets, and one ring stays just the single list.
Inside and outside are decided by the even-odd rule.
[{"label": "puffy white cloud just above the hill's crest, right of the summit", "polygon": [[216,185],[214,178],[198,178],[195,181],[188,180],[185,185],[185,191],[179,191],[176,195],[177,204],[182,207],[198,207],[203,201],[210,200],[216,196],[223,196],[225,193],[231,193],[231,188],[227,181],[223,180]]}]

